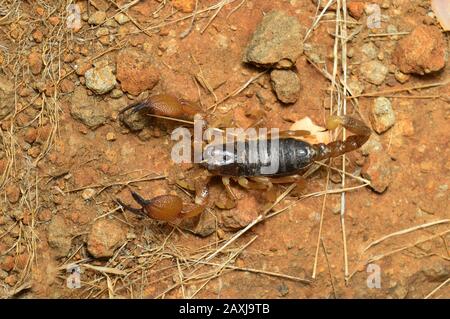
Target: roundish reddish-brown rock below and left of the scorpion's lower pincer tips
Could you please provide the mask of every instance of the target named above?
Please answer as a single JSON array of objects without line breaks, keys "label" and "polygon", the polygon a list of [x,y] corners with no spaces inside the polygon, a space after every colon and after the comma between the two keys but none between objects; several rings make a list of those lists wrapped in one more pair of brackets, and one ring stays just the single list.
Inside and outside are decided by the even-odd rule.
[{"label": "roundish reddish-brown rock below and left of the scorpion's lower pincer tips", "polygon": [[127,229],[116,221],[99,219],[92,225],[87,249],[95,258],[107,258],[127,240]]}]

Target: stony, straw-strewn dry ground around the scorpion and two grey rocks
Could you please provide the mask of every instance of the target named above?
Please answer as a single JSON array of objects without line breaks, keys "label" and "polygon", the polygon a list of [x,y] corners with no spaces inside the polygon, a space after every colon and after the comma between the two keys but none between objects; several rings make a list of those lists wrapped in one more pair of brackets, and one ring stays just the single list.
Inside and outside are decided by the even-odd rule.
[{"label": "stony, straw-strewn dry ground around the scorpion and two grey rocks", "polygon": [[[449,66],[439,60],[448,34],[429,1],[370,1],[381,10],[379,28],[368,27],[368,3],[352,4],[351,15],[334,3],[320,15],[310,0],[1,1],[0,295],[448,298]],[[295,17],[306,38],[292,104],[277,99],[269,72],[254,79],[264,67],[242,62],[272,10]],[[399,41],[421,26],[437,31],[423,41],[414,34],[419,46],[394,61]],[[410,51],[426,61],[408,62]],[[400,73],[402,63],[432,72]],[[170,93],[227,126],[287,129],[305,116],[323,125],[330,106],[342,110],[343,70],[357,96],[347,113],[383,125],[371,118],[380,95],[395,115],[346,156],[344,185],[335,159],[338,171],[319,167],[301,191],[282,196],[289,184],[277,187],[281,200],[268,216],[279,213],[256,225],[269,198],[237,184],[235,208],[214,205],[223,196],[215,181],[201,220],[176,225],[114,202],[132,203],[129,189],[192,202],[180,185],[197,171],[171,162],[174,124],[124,123],[118,112],[134,100]],[[76,265],[74,289],[67,278]]]}]

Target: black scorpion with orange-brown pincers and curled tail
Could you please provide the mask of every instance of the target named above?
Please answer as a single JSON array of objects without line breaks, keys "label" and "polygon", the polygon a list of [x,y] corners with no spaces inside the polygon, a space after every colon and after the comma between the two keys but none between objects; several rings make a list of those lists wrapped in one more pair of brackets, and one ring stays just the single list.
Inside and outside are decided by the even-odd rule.
[{"label": "black scorpion with orange-brown pincers and curled tail", "polygon": [[[172,95],[153,95],[142,101],[133,103],[120,111],[120,114],[131,109],[131,113],[146,111],[156,117],[172,118],[184,121],[192,121],[196,114],[203,114],[202,110],[194,103],[179,99]],[[293,183],[302,180],[301,172],[304,172],[316,161],[338,157],[345,153],[360,148],[369,139],[371,130],[361,120],[351,116],[330,116],[326,121],[326,129],[333,130],[342,126],[354,135],[348,136],[344,141],[333,141],[328,144],[310,144],[301,139],[310,135],[303,130],[281,131],[277,137],[269,135],[264,139],[257,139],[258,145],[266,145],[266,153],[259,154],[260,148],[256,148],[256,161],[250,161],[249,139],[234,141],[234,145],[227,142],[213,143],[205,147],[204,153],[208,160],[203,160],[199,165],[206,169],[207,174],[197,178],[194,183],[195,199],[193,208],[187,209],[182,199],[176,195],[160,195],[152,199],[144,199],[138,193],[131,191],[134,200],[141,206],[134,208],[120,200],[117,202],[126,210],[144,215],[160,221],[173,221],[177,218],[191,218],[200,215],[206,208],[209,195],[208,183],[214,176],[220,176],[225,190],[236,199],[230,188],[233,180],[246,189],[270,189],[273,184]],[[277,143],[275,151],[270,151],[270,145]],[[242,143],[240,147],[237,143]],[[228,147],[227,147],[228,146]],[[230,146],[232,146],[230,148]],[[231,149],[231,151],[230,151]],[[239,151],[240,150],[240,151]],[[209,155],[209,156],[208,156]],[[260,156],[261,155],[261,156]],[[266,158],[264,163],[261,157]],[[276,171],[267,172],[263,169],[267,164],[277,161]],[[191,205],[192,206],[192,205]]]}]

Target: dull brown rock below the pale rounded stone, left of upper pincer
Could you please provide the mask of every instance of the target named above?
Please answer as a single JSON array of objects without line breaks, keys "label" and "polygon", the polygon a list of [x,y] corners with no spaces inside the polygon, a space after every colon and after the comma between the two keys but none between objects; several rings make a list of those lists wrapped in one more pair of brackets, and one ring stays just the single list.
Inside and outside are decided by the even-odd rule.
[{"label": "dull brown rock below the pale rounded stone, left of upper pincer", "polygon": [[83,87],[77,87],[72,96],[70,114],[91,129],[103,125],[107,119],[106,110],[102,104],[87,95]]}]

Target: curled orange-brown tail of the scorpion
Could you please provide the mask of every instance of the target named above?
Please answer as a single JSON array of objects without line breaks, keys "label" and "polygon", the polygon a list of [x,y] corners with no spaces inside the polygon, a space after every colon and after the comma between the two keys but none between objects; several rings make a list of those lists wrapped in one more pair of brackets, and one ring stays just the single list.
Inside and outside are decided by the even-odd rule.
[{"label": "curled orange-brown tail of the scorpion", "polygon": [[316,151],[314,160],[322,160],[337,157],[360,148],[370,137],[371,130],[364,122],[350,116],[331,116],[327,120],[327,129],[333,130],[342,125],[355,135],[346,138],[345,141],[334,141],[329,144],[312,145]]}]

